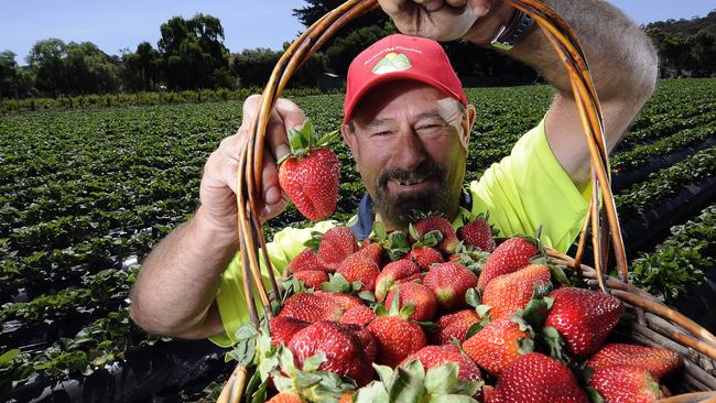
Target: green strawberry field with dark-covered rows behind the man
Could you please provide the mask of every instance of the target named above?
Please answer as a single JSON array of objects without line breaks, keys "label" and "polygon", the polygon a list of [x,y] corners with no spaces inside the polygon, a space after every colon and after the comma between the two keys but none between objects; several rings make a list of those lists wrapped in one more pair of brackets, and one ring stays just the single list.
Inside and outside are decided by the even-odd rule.
[{"label": "green strawberry field with dark-covered rows behind the man", "polygon": [[[546,111],[546,86],[469,89],[468,179],[509,154]],[[319,132],[343,96],[294,100]],[[196,401],[231,371],[208,341],[148,336],[129,318],[142,259],[197,207],[204,161],[240,101],[50,110],[0,118],[0,400]],[[614,188],[639,286],[714,327],[716,79],[662,80],[612,153]],[[362,186],[344,145],[336,217]],[[268,235],[304,221],[292,208]],[[708,305],[710,304],[710,305]],[[713,311],[713,309],[710,309]]]}]

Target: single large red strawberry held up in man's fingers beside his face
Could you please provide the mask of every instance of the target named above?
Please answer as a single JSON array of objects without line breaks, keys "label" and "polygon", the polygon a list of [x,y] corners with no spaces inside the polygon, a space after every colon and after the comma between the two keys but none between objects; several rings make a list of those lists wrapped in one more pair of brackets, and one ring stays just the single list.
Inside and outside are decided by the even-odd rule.
[{"label": "single large red strawberry held up in man's fingers beside his face", "polygon": [[291,153],[279,162],[281,188],[299,211],[314,221],[329,217],[338,200],[340,161],[324,148],[333,137],[317,139],[306,120],[301,130],[289,131]]}]

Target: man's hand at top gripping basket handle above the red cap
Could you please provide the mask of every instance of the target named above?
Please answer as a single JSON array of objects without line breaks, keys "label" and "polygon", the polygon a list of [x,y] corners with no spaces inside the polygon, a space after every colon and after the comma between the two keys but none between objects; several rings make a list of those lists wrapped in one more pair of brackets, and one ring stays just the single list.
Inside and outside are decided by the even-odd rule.
[{"label": "man's hand at top gripping basket handle above the red cap", "polygon": [[[478,19],[495,14],[498,0],[378,0],[405,35],[452,41],[466,36],[489,37],[492,26],[476,26]],[[495,9],[495,10],[492,10]],[[477,24],[480,25],[480,24]],[[485,30],[487,29],[487,30]]]}]

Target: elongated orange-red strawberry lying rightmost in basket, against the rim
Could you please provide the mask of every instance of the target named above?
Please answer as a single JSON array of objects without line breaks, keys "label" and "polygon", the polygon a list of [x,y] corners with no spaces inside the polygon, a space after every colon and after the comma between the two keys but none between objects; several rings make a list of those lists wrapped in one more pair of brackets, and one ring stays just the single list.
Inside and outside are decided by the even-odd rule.
[{"label": "elongated orange-red strawberry lying rightmost in basket, against the rim", "polygon": [[587,362],[593,371],[611,366],[632,366],[649,371],[659,381],[682,364],[677,353],[665,348],[625,344],[604,345]]}]

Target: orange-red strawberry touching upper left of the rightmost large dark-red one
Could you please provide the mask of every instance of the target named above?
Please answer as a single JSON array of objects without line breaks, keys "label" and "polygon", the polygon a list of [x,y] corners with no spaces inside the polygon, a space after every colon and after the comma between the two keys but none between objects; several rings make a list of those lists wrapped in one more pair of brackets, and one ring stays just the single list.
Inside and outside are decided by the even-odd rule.
[{"label": "orange-red strawberry touching upper left of the rightmost large dark-red one", "polygon": [[498,275],[482,292],[482,304],[490,306],[492,320],[508,318],[527,306],[535,287],[544,290],[550,284],[550,269],[531,264],[510,274]]}]

